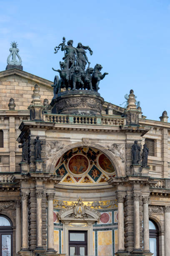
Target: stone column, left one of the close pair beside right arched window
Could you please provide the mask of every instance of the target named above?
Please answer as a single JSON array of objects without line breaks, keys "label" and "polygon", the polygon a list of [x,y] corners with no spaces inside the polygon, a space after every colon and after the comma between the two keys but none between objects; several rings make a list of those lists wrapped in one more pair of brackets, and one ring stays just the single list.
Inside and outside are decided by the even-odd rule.
[{"label": "stone column, left one of the close pair beside right arched window", "polygon": [[140,195],[133,194],[133,215],[134,215],[134,251],[140,251]]}]

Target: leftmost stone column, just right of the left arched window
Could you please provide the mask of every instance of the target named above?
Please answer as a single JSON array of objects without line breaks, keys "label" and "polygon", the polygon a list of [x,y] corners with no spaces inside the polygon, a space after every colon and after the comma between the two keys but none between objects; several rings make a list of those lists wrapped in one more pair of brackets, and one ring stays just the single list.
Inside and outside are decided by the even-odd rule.
[{"label": "leftmost stone column, just right of the left arched window", "polygon": [[16,201],[16,253],[21,250],[21,201]]}]

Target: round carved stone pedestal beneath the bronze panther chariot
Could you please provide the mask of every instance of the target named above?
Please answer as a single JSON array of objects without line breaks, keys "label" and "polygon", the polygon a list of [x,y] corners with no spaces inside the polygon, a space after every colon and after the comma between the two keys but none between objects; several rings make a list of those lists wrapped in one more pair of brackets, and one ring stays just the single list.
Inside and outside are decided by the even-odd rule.
[{"label": "round carved stone pedestal beneath the bronze panther chariot", "polygon": [[98,92],[71,90],[58,93],[49,109],[52,109],[52,114],[101,115],[103,102]]}]

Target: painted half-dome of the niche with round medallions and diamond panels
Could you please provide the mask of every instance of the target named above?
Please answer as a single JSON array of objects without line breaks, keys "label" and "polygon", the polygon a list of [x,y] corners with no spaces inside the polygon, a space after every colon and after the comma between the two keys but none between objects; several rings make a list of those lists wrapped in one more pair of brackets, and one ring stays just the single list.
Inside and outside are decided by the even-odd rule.
[{"label": "painted half-dome of the niche with round medallions and diamond panels", "polygon": [[99,145],[82,146],[75,143],[62,148],[54,157],[51,172],[64,175],[61,183],[98,184],[117,177],[120,166],[107,149]]}]

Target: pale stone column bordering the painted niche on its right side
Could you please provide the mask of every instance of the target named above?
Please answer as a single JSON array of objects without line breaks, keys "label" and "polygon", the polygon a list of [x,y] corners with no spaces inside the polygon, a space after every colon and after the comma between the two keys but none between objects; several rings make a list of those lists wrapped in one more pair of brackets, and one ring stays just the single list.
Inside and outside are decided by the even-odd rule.
[{"label": "pale stone column bordering the painted niche on its right side", "polygon": [[125,251],[123,202],[124,202],[124,195],[117,195],[117,207],[118,207],[118,251]]}]

